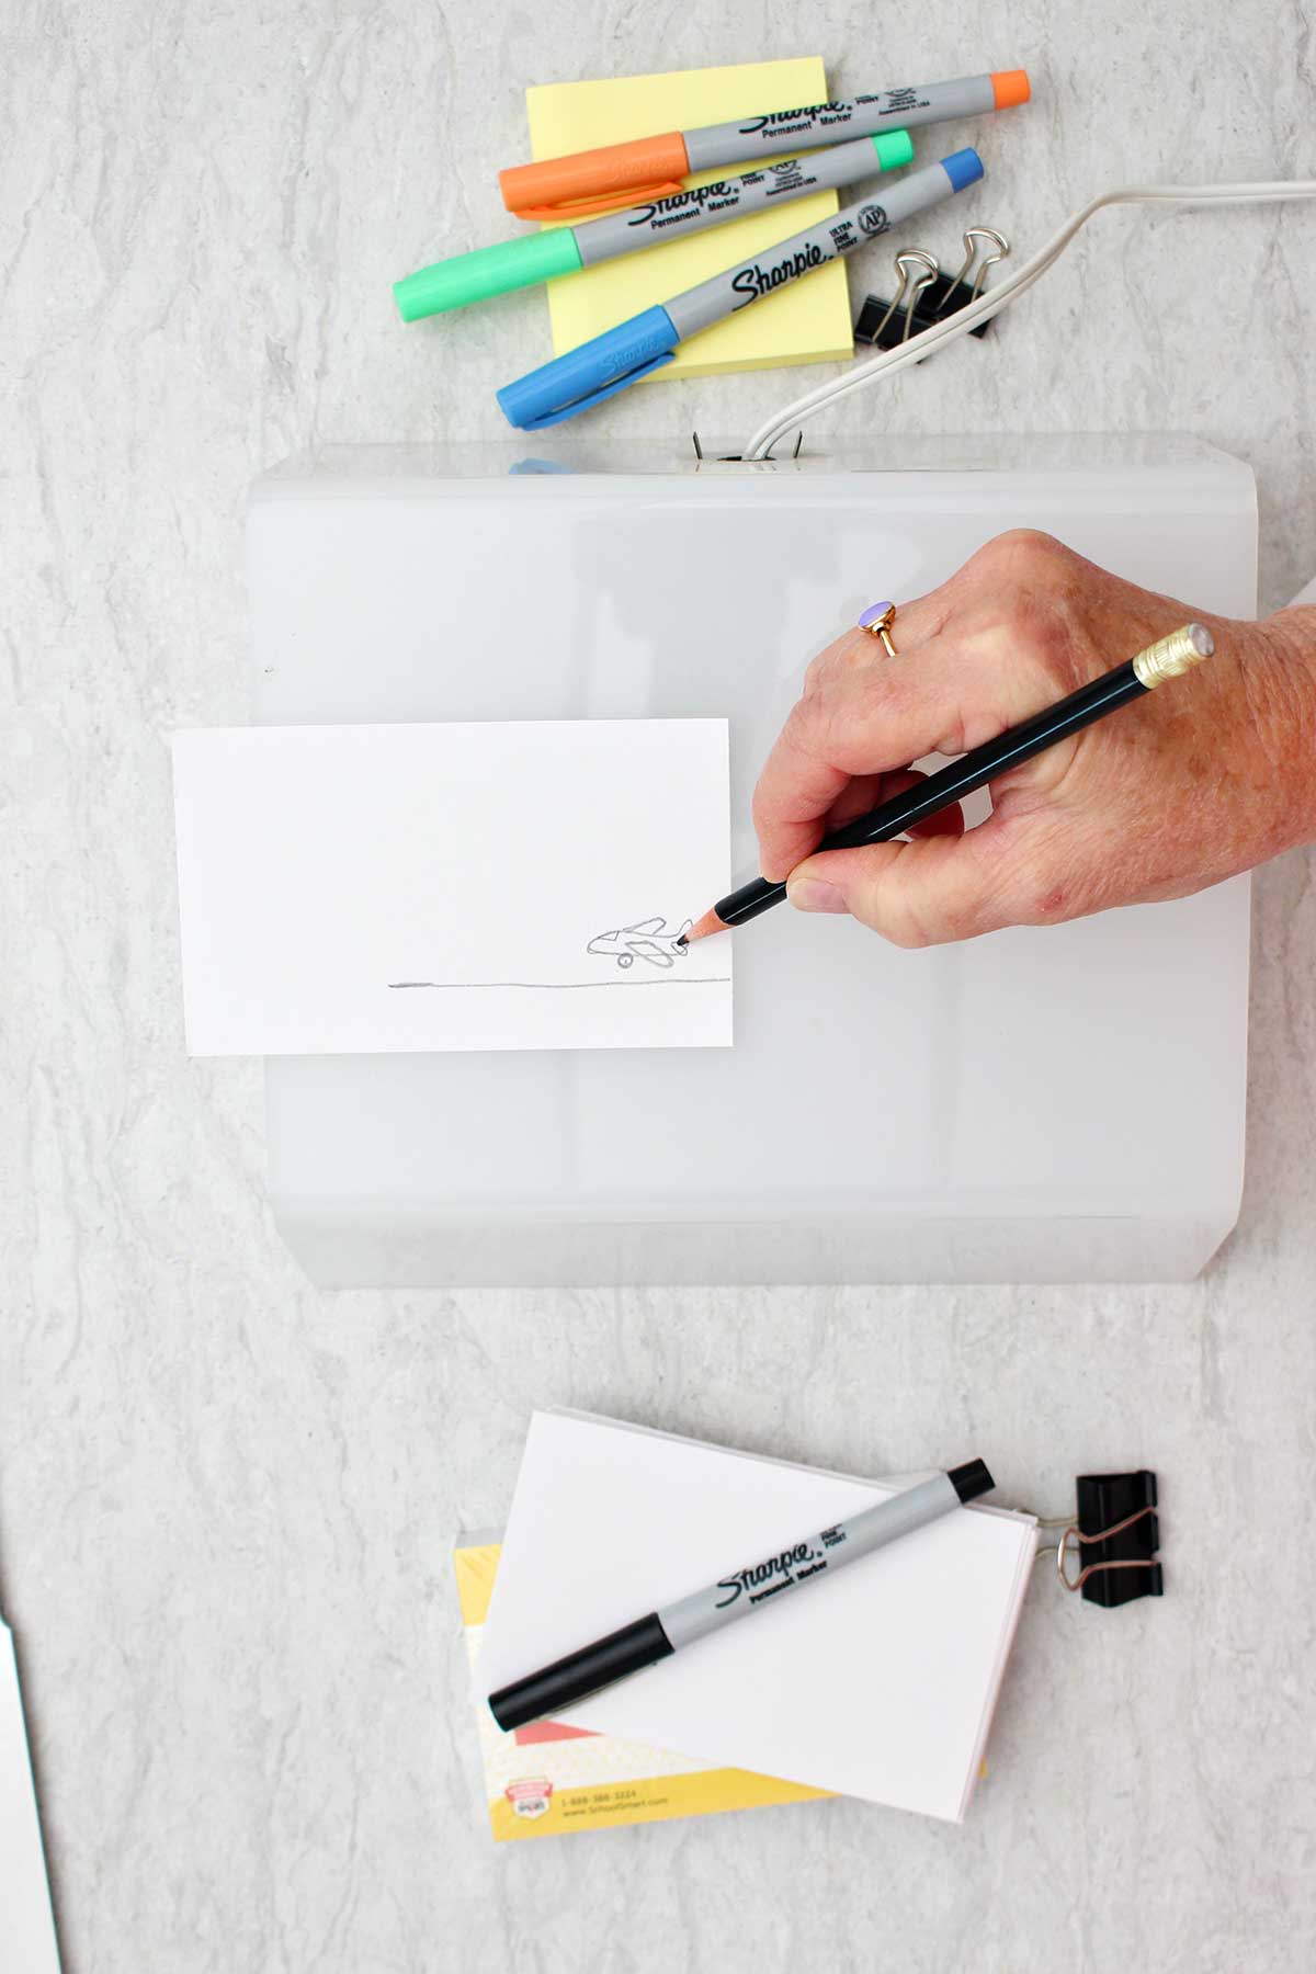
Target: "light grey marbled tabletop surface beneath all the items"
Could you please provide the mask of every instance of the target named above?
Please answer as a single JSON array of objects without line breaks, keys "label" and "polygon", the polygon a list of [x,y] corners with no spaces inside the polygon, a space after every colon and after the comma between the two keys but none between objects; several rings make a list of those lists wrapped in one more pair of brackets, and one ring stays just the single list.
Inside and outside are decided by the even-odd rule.
[{"label": "light grey marbled tabletop surface beneath all the items", "polygon": [[[262,1204],[258,1072],[183,1060],[164,734],[247,711],[247,482],[328,438],[497,434],[541,304],[402,332],[389,282],[503,231],[523,83],[805,47],[839,91],[1026,61],[1036,107],[981,132],[981,213],[1020,247],[1117,176],[1316,164],[1292,0],[584,18],[10,0],[0,24],[0,1571],[69,1966],[1304,1968],[1310,859],[1259,884],[1247,1200],[1188,1289],[320,1297]],[[1316,559],[1314,225],[1103,215],[994,351],[862,417],[1196,430],[1259,472],[1275,606]],[[955,221],[921,239],[949,255]],[[606,420],[750,430],[797,381]],[[448,1546],[503,1512],[533,1404],[864,1473],[981,1447],[1042,1508],[1146,1461],[1170,1595],[1105,1617],[1038,1585],[965,1830],[833,1802],[495,1854]]]}]

